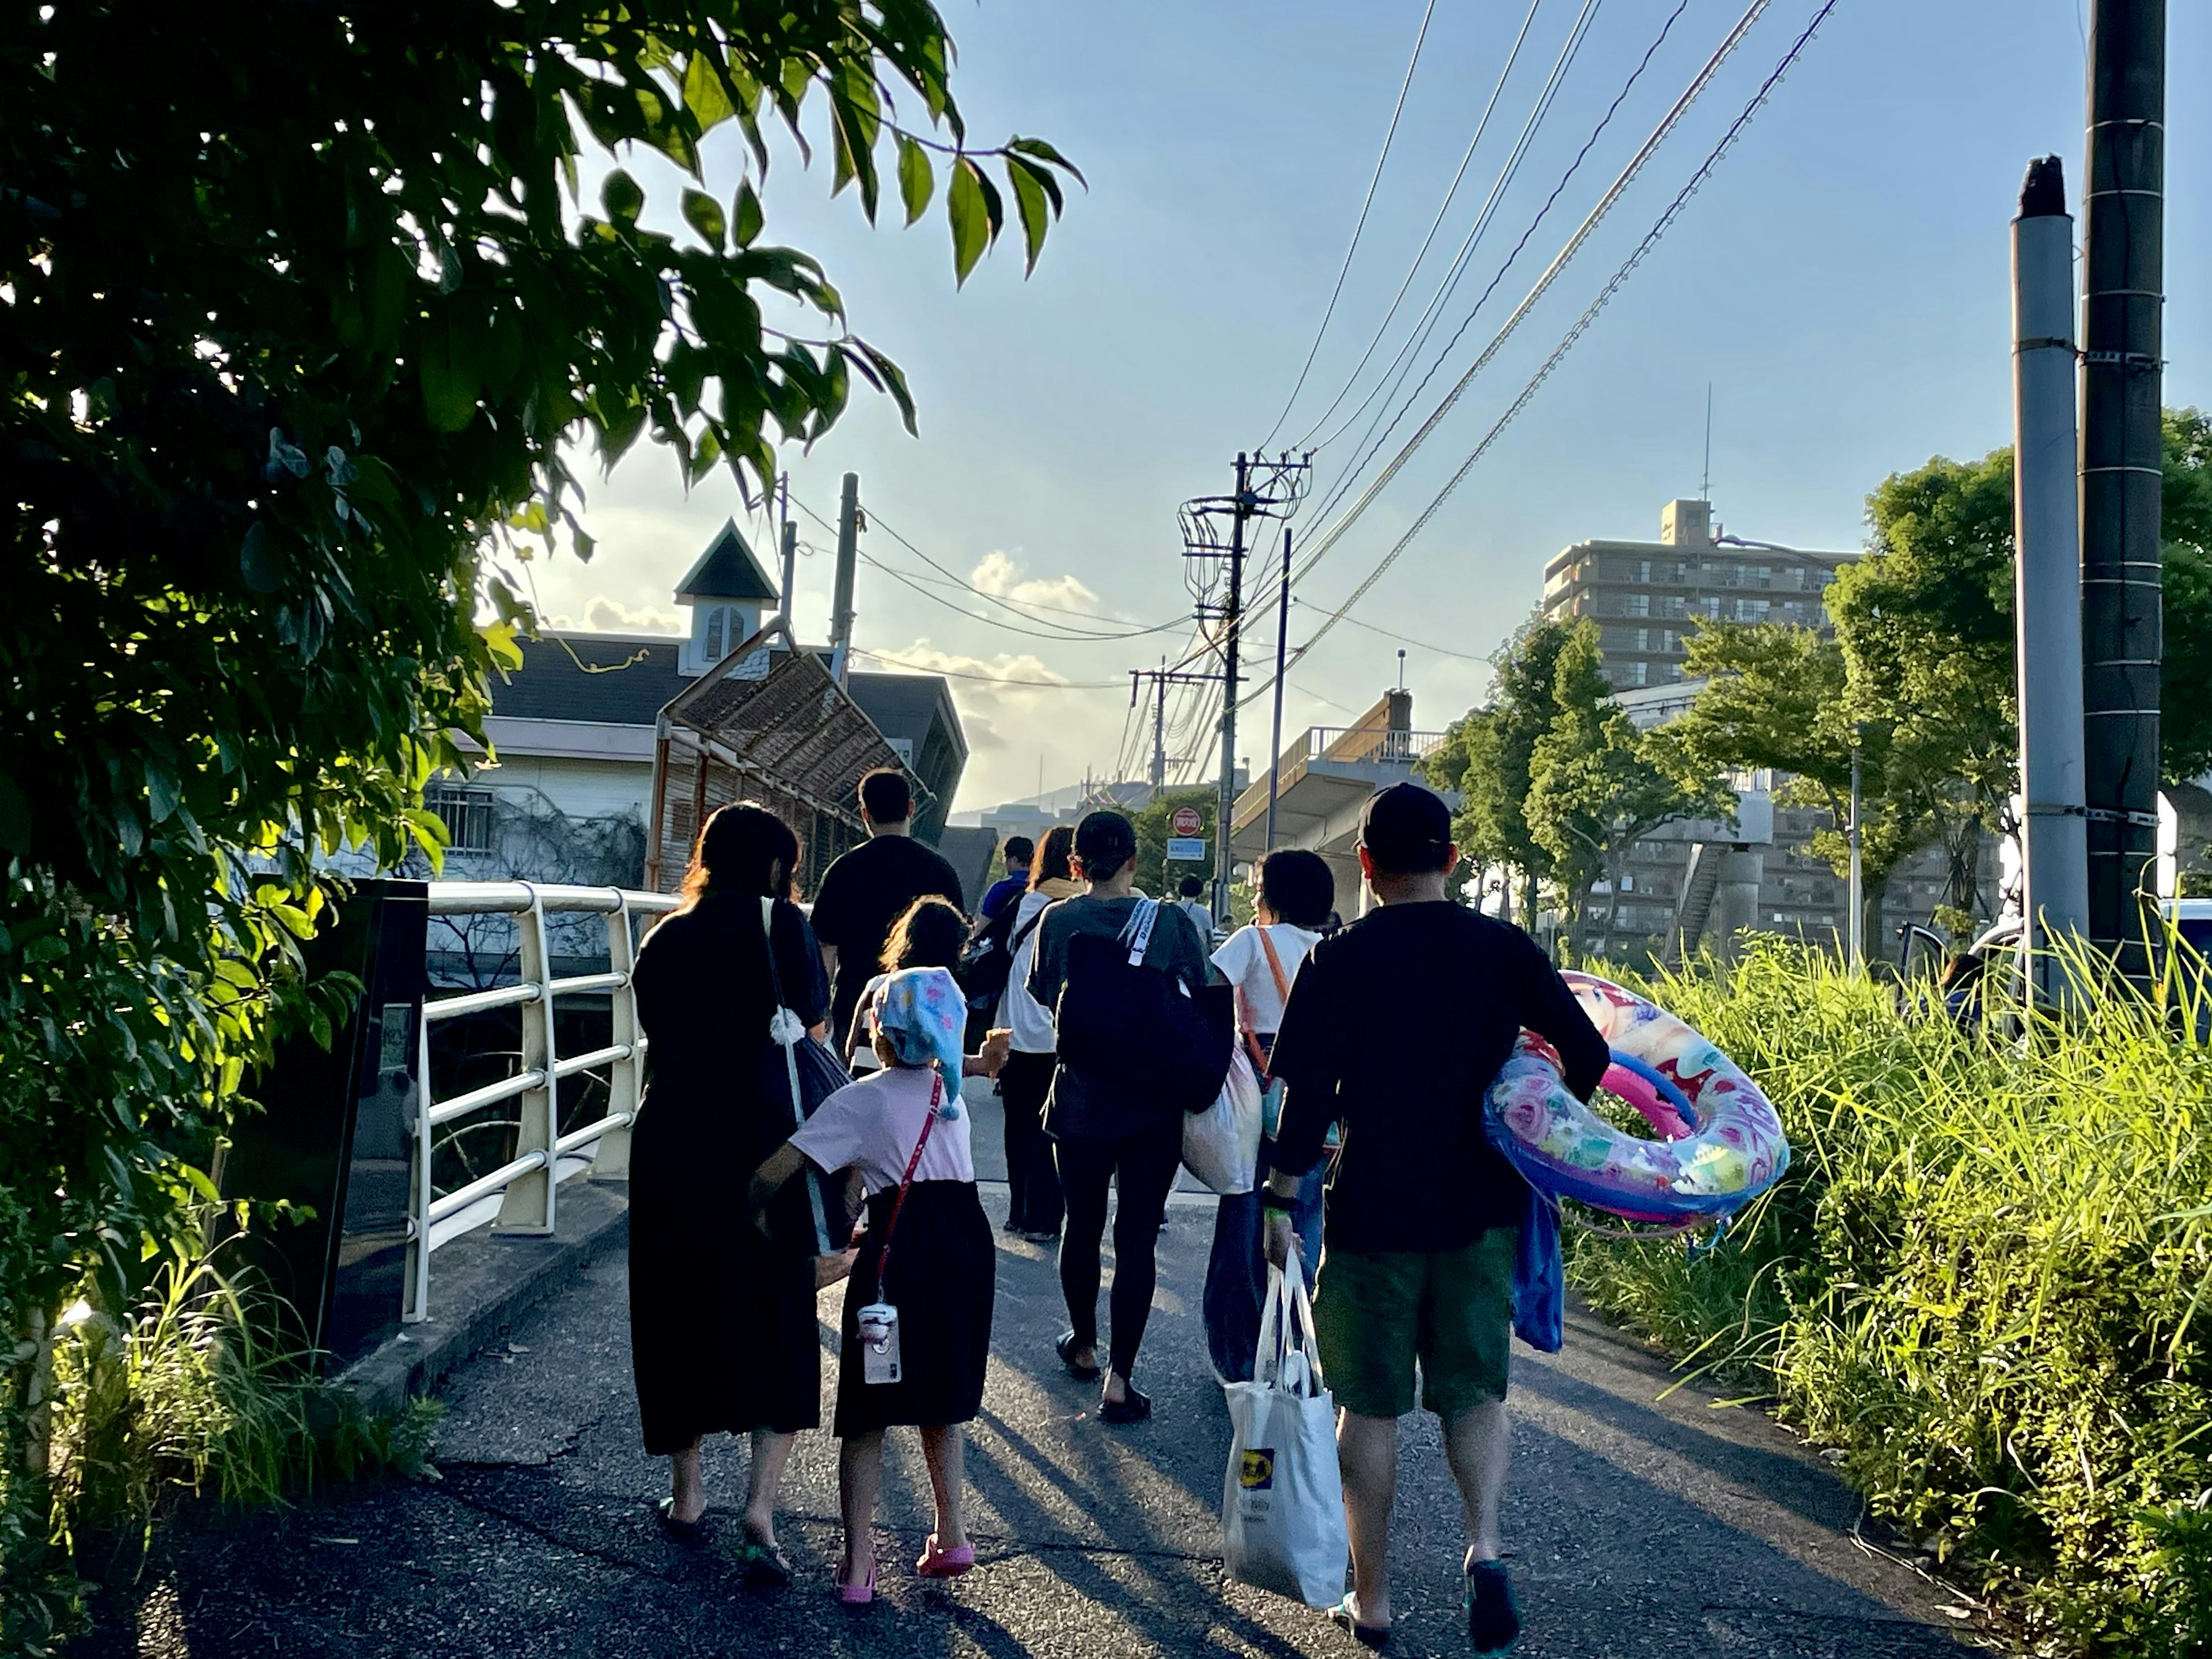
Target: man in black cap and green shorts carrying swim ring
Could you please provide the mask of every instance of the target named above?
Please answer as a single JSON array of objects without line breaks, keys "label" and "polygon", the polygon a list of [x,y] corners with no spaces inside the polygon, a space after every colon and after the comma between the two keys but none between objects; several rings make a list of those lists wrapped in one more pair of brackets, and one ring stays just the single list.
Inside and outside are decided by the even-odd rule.
[{"label": "man in black cap and green shorts carrying swim ring", "polygon": [[1360,814],[1360,872],[1380,909],[1314,947],[1274,1044],[1285,1082],[1263,1197],[1267,1259],[1290,1261],[1290,1206],[1329,1124],[1329,1181],[1314,1336],[1340,1407],[1336,1453],[1352,1533],[1352,1593],[1329,1617],[1380,1646],[1389,1630],[1389,1511],[1398,1418],[1444,1422],[1467,1509],[1464,1610],[1475,1652],[1520,1635],[1500,1562],[1506,1478],[1506,1347],[1513,1250],[1528,1188],[1482,1133],[1482,1097],[1522,1026],[1559,1051],[1588,1099],[1604,1037],[1535,942],[1447,896],[1460,860],[1451,812],[1394,783]]}]

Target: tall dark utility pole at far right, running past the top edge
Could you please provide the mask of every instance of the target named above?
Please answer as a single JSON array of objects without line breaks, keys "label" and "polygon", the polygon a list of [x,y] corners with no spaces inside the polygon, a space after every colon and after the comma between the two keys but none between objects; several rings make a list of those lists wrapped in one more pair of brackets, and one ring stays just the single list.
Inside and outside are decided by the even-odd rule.
[{"label": "tall dark utility pole at far right, running past the top edge", "polygon": [[2150,978],[2143,874],[2159,834],[2159,434],[2166,0],[2095,0],[2081,352],[2081,730],[2088,936]]}]

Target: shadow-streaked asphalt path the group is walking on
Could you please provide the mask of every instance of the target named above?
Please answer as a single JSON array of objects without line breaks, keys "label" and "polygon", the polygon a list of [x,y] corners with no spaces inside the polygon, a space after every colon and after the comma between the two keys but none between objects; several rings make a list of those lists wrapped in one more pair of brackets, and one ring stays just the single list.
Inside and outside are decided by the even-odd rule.
[{"label": "shadow-streaked asphalt path the group is walking on", "polygon": [[[978,1124],[982,1128],[982,1124]],[[1002,1188],[987,1186],[1000,1212]],[[1060,1374],[1051,1261],[1004,1241],[995,1365],[973,1425],[982,1566],[956,1586],[889,1577],[869,1613],[830,1601],[836,1444],[805,1436],[785,1542],[801,1582],[745,1593],[714,1551],[659,1535],[666,1464],[641,1455],[626,1267],[591,1267],[511,1343],[458,1371],[436,1482],[336,1489],[292,1509],[188,1515],[128,1593],[102,1597],[93,1655],[1349,1655],[1321,1615],[1230,1586],[1217,1506],[1228,1418],[1197,1323],[1212,1217],[1177,1201],[1139,1380],[1157,1413],[1093,1416]],[[836,1296],[823,1301],[832,1345]],[[1763,1418],[1679,1391],[1641,1347],[1575,1318],[1566,1354],[1515,1354],[1509,1546],[1531,1659],[1936,1659],[1942,1597],[1851,1542],[1856,1502]],[[827,1402],[823,1420],[827,1422]],[[1409,1420],[1394,1575],[1396,1655],[1464,1655],[1458,1500],[1433,1420]],[[719,1500],[743,1453],[714,1442]],[[929,1531],[911,1436],[894,1436],[887,1562]],[[734,1515],[717,1511],[723,1531]]]}]

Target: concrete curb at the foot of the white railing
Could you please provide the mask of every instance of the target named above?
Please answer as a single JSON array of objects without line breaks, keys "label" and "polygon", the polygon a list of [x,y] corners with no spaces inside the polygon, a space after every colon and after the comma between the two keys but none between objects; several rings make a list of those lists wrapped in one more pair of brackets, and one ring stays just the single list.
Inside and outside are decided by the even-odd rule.
[{"label": "concrete curb at the foot of the white railing", "polygon": [[560,1190],[560,1228],[551,1239],[484,1228],[440,1250],[431,1261],[431,1318],[363,1354],[338,1374],[338,1387],[374,1416],[400,1411],[628,1241],[628,1183],[568,1181]]}]

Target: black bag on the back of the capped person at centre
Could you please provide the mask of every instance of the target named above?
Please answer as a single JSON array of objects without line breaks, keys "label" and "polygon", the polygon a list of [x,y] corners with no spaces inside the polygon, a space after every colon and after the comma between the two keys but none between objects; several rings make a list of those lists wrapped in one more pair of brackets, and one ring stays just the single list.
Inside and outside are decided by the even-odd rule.
[{"label": "black bag on the back of the capped person at centre", "polygon": [[1137,905],[1119,938],[1077,933],[1055,1009],[1060,1064],[1133,1099],[1203,1113],[1230,1075],[1232,989],[1190,991],[1144,967],[1159,900]]}]

